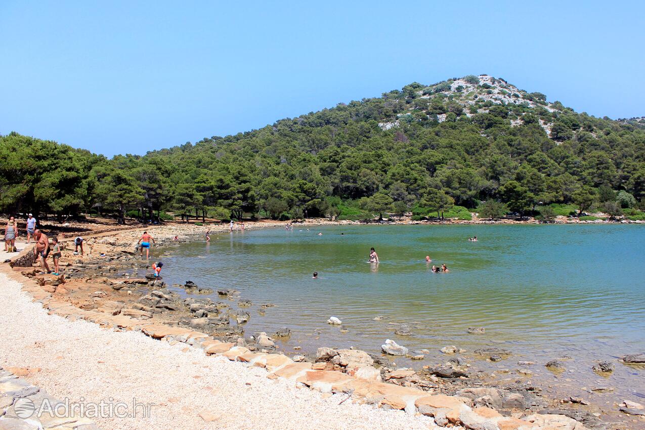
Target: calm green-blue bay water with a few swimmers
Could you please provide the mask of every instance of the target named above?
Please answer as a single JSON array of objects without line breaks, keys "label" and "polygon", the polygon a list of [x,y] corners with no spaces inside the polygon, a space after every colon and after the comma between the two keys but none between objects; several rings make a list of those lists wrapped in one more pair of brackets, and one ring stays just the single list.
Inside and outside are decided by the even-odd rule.
[{"label": "calm green-blue bay water with a few swimmers", "polygon": [[[468,242],[474,235],[479,241]],[[378,266],[367,263],[372,246]],[[246,335],[290,327],[284,349],[354,346],[378,353],[392,338],[410,351],[431,351],[419,366],[446,360],[438,351],[446,345],[497,346],[515,355],[473,367],[512,371],[517,360],[531,360],[536,378],[645,396],[642,368],[616,363],[610,378],[591,372],[598,360],[645,352],[645,226],[295,226],[213,235],[210,244],[183,244],[166,254],[166,282],[238,289],[253,302]],[[450,273],[430,271],[442,263]],[[321,279],[312,279],[313,271]],[[276,306],[260,315],[266,302]],[[386,318],[374,321],[377,315]],[[331,316],[348,331],[326,324]],[[393,333],[401,323],[412,336]],[[470,326],[486,333],[468,334]],[[564,375],[542,366],[563,356],[573,359]]]}]

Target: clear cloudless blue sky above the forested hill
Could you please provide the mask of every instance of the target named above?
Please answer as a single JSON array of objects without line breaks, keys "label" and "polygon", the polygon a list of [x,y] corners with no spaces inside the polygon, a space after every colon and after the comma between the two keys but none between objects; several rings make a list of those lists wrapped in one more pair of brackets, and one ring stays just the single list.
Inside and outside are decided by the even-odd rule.
[{"label": "clear cloudless blue sky above the forested hill", "polygon": [[470,73],[645,115],[642,1],[180,3],[1,1],[0,134],[143,154]]}]

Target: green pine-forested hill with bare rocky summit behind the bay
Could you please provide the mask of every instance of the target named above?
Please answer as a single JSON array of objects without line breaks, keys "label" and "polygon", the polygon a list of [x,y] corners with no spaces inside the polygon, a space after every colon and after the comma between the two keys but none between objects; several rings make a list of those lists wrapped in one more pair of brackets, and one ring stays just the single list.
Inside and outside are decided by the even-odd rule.
[{"label": "green pine-forested hill with bare rocky summit behind the bay", "polygon": [[110,160],[10,133],[0,138],[0,210],[228,218],[420,216],[482,201],[497,215],[550,204],[642,209],[638,119],[600,119],[546,99],[469,75]]}]

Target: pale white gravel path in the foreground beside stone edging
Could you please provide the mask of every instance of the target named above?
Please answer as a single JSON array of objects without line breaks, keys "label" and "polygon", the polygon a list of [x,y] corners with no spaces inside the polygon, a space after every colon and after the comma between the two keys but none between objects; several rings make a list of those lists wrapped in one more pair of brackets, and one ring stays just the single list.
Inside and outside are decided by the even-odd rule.
[{"label": "pale white gravel path in the foreground beside stone edging", "polygon": [[155,404],[150,416],[94,418],[102,429],[435,428],[425,416],[339,405],[346,395],[324,398],[185,344],[48,315],[3,273],[0,308],[0,366],[40,367],[29,382],[72,402]]}]

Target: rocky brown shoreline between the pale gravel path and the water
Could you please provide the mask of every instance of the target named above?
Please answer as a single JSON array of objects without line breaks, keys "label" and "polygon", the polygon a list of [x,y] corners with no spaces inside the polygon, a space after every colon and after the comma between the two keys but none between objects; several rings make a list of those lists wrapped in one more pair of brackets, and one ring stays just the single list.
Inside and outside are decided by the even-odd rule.
[{"label": "rocky brown shoreline between the pale gravel path and the water", "polygon": [[[284,223],[250,224],[247,229],[275,226],[284,226]],[[148,228],[159,245],[176,244],[175,235],[180,242],[201,239],[206,230],[228,231],[228,226]],[[64,250],[62,261],[67,266],[61,277],[38,275],[35,269],[15,267],[14,271],[34,281],[26,290],[52,313],[83,318],[116,330],[139,330],[167,342],[185,342],[203,349],[207,355],[223,355],[230,360],[265,367],[271,372],[270,378],[285,377],[324,393],[348,393],[348,398],[355,402],[432,416],[439,425],[508,430],[619,428],[611,427],[610,423],[620,421],[620,415],[606,415],[598,407],[586,404],[584,399],[546,398],[541,387],[531,383],[530,378],[522,378],[530,373],[528,369],[526,375],[501,381],[489,378],[490,375],[473,375],[462,357],[415,371],[390,368],[388,360],[355,349],[321,347],[309,356],[298,349],[277,351],[274,339],[288,337],[290,331],[285,327],[270,335],[258,332],[244,337],[243,324],[250,317],[246,309],[252,304],[243,300],[238,291],[221,289],[217,291],[220,300],[213,302],[200,297],[212,294],[212,290],[186,282],[174,286],[184,289],[187,297],[183,298],[149,273],[139,277],[139,271],[146,271],[149,262],[134,256],[136,234],[123,231],[100,239],[86,238],[84,257]],[[261,304],[261,309],[270,307],[270,303]],[[479,329],[473,327],[473,331]],[[405,327],[399,330],[405,331]],[[442,352],[448,355],[458,352],[455,347],[446,348]],[[386,342],[382,350],[410,358],[416,354],[409,354],[410,351],[395,342]],[[423,355],[423,351],[416,352],[421,353],[416,354],[417,358]],[[510,351],[482,349],[475,354],[495,361],[508,356]],[[636,361],[641,358],[626,357]],[[518,365],[531,364],[518,362]],[[550,363],[550,367],[558,365],[558,362]],[[599,366],[599,371],[611,369],[611,363]],[[641,409],[636,405],[625,404],[622,409],[628,411],[622,413],[631,411],[630,416],[638,418]],[[627,426],[620,428],[630,428],[630,425],[638,428],[638,422],[624,424]]]}]

